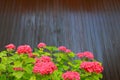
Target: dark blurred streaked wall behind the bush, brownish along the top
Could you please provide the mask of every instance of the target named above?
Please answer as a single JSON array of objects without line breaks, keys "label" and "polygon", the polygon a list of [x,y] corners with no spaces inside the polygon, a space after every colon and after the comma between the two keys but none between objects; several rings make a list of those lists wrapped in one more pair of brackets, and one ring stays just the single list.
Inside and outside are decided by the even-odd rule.
[{"label": "dark blurred streaked wall behind the bush, brownish along the top", "polygon": [[120,80],[120,0],[0,0],[0,50],[41,41],[91,51]]}]

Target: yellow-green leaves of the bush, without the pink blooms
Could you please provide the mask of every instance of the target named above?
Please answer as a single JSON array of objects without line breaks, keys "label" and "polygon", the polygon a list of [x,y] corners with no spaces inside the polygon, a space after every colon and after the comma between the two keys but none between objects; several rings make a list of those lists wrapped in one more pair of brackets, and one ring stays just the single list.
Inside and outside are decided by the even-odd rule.
[{"label": "yellow-green leaves of the bush, without the pink blooms", "polygon": [[[46,46],[46,48],[35,48],[33,54],[37,58],[51,57],[58,70],[48,75],[34,74],[35,58],[29,57],[27,54],[19,55],[15,51],[5,50],[0,52],[0,80],[63,80],[62,74],[66,71],[79,72],[81,80],[102,79],[102,74],[89,73],[80,69],[80,64],[85,60],[76,59],[73,52],[66,53],[59,51],[55,46]],[[23,70],[17,71],[14,68],[23,68]]]}]

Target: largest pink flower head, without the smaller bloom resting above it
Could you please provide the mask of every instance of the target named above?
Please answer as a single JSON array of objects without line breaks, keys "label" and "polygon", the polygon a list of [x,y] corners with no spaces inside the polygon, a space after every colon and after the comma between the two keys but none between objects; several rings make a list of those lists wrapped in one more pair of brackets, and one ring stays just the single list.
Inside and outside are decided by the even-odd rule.
[{"label": "largest pink flower head, without the smaller bloom resting above it", "polygon": [[57,69],[53,62],[39,62],[36,63],[33,72],[41,75],[52,74]]}]

